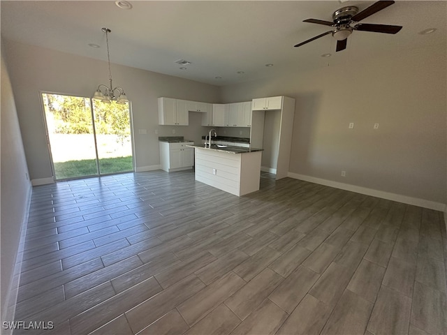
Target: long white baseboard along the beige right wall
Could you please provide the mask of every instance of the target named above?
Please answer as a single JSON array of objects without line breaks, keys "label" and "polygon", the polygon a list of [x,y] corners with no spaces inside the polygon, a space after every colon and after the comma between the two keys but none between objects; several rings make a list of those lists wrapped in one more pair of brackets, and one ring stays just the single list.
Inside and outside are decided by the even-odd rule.
[{"label": "long white baseboard along the beige right wall", "polygon": [[[434,209],[436,211],[444,211],[444,213],[446,213],[446,204],[442,204],[441,202],[434,202],[434,201],[420,199],[420,198],[407,197],[406,195],[400,195],[400,194],[395,194],[395,193],[390,193],[390,192],[385,192],[385,191],[378,191],[378,190],[374,190],[372,188],[344,184],[344,183],[340,183],[338,181],[332,181],[332,180],[328,180],[328,179],[311,177],[311,176],[307,176],[305,174],[298,174],[298,173],[293,173],[293,172],[288,172],[287,177],[291,177],[293,179],[309,181],[309,182],[315,183],[315,184],[321,184],[321,185],[325,185],[325,186],[340,188],[345,191],[351,191],[351,192],[356,192],[356,193],[360,193],[360,194],[371,195],[373,197],[382,198],[382,199],[386,199],[386,200],[402,202],[404,204],[413,204],[414,206],[424,207],[424,208],[428,208],[428,209]],[[445,217],[446,217],[446,214],[444,214],[444,218]]]}]

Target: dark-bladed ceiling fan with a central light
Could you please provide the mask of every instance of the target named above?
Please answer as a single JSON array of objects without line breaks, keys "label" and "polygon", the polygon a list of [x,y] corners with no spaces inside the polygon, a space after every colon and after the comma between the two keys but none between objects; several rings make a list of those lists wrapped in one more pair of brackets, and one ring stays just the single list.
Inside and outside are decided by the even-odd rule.
[{"label": "dark-bladed ceiling fan with a central light", "polygon": [[321,38],[325,35],[332,34],[334,38],[337,40],[337,49],[336,51],[342,51],[346,49],[346,43],[348,41],[349,35],[352,34],[353,30],[359,31],[372,31],[374,33],[385,33],[385,34],[397,34],[397,32],[402,29],[402,26],[391,26],[389,24],[369,24],[369,23],[358,23],[359,21],[373,15],[374,13],[379,12],[379,10],[385,9],[388,6],[391,6],[395,1],[377,1],[373,3],[371,6],[362,10],[358,13],[358,7],[356,6],[346,6],[340,8],[339,10],[335,10],[332,14],[332,20],[324,21],[324,20],[316,20],[316,19],[307,19],[303,22],[323,24],[325,26],[333,27],[330,31],[326,31],[325,33],[315,36],[314,38],[310,38],[309,40],[305,40],[302,43],[295,45],[295,47],[300,47],[301,45],[305,45],[306,43],[312,42],[312,40],[316,40],[317,38]]}]

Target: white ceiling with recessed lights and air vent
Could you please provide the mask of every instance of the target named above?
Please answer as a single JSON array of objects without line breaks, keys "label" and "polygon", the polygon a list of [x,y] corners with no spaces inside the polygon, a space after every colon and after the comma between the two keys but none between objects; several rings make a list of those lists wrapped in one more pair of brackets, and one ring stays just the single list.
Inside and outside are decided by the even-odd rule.
[{"label": "white ceiling with recessed lights and air vent", "polygon": [[[106,60],[101,28],[108,27],[112,63],[215,85],[299,73],[328,62],[398,57],[414,48],[446,50],[446,1],[396,1],[362,22],[401,25],[399,33],[354,31],[347,49],[337,53],[330,35],[293,47],[330,30],[302,20],[332,21],[338,8],[353,5],[363,10],[375,1],[130,2],[131,10],[118,8],[115,1],[1,1],[1,34],[21,43]],[[437,28],[433,34],[418,34],[432,27]],[[328,52],[332,57],[321,57]],[[177,59],[191,64],[180,70],[174,63]],[[274,66],[265,67],[269,63]]]}]

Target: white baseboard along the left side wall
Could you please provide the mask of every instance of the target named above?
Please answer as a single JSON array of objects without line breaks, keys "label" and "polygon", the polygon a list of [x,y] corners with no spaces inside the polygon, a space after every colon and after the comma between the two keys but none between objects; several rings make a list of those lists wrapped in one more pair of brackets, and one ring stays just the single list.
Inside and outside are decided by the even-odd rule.
[{"label": "white baseboard along the left side wall", "polygon": [[[29,184],[29,190],[27,194],[27,200],[25,201],[24,215],[22,218],[22,227],[20,228],[20,240],[19,247],[17,248],[17,253],[15,255],[15,265],[12,274],[12,279],[8,288],[8,297],[6,297],[6,308],[2,313],[3,321],[13,321],[15,318],[15,305],[17,304],[17,294],[19,292],[20,274],[22,273],[22,260],[23,260],[23,249],[25,245],[25,239],[27,234],[28,217],[29,217],[29,207],[31,206],[31,195],[33,188],[31,183]],[[3,309],[3,308],[2,308]],[[13,329],[2,329],[2,334],[11,335],[13,334]]]}]

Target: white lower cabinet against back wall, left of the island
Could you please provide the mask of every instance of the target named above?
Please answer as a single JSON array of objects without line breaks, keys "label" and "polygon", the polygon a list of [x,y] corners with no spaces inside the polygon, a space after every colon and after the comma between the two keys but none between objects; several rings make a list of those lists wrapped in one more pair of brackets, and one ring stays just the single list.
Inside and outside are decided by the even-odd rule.
[{"label": "white lower cabinet against back wall, left of the island", "polygon": [[192,169],[194,165],[194,149],[186,147],[188,144],[194,144],[194,142],[160,142],[161,170],[173,172]]}]

